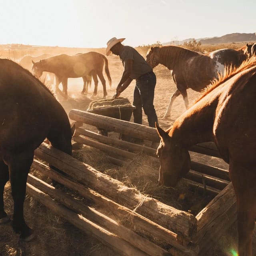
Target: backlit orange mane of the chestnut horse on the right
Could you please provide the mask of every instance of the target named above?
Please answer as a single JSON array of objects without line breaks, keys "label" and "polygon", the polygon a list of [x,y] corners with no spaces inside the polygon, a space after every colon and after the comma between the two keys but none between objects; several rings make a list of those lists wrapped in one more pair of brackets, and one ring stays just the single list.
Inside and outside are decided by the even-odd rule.
[{"label": "backlit orange mane of the chestnut horse on the right", "polygon": [[225,70],[224,70],[224,73],[223,74],[218,73],[218,78],[214,79],[212,81],[212,84],[210,84],[209,86],[207,86],[204,89],[203,94],[197,100],[195,100],[194,104],[196,104],[196,102],[198,102],[199,100],[204,98],[204,96],[206,96],[208,93],[210,93],[216,87],[218,87],[221,84],[223,84],[224,82],[226,82],[231,77],[233,77],[236,74],[242,72],[243,70],[251,68],[255,65],[256,65],[256,58],[250,58],[250,59],[244,60],[239,67],[235,67],[235,66],[232,66],[232,65],[231,66],[226,66]]}]

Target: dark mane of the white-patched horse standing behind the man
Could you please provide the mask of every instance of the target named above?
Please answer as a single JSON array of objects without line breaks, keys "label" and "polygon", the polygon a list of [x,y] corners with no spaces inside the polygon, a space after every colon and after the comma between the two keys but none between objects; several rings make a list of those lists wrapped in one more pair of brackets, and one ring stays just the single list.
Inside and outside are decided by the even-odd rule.
[{"label": "dark mane of the white-patched horse standing behind the man", "polygon": [[[159,51],[160,58],[164,63],[166,63],[165,64],[166,67],[172,66],[173,61],[175,59],[177,60],[178,58],[182,58],[183,56],[185,56],[185,58],[187,58],[187,57],[200,55],[197,52],[188,50],[186,48],[182,48],[180,46],[172,46],[172,45],[160,46],[159,49],[160,49],[160,51]],[[169,58],[170,55],[172,55],[172,58]]]}]

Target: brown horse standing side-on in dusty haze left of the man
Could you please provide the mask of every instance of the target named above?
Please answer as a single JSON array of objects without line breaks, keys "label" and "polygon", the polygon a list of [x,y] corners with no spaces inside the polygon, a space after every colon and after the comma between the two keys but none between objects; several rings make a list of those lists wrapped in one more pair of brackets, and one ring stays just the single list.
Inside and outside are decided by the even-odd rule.
[{"label": "brown horse standing side-on in dusty haze left of the man", "polygon": [[83,54],[76,54],[69,56],[67,54],[60,54],[38,62],[33,62],[32,71],[38,77],[42,75],[43,71],[52,72],[56,77],[56,93],[60,92],[59,84],[62,83],[64,97],[68,97],[68,78],[82,77],[84,80],[84,87],[82,94],[86,92],[86,84],[94,80],[94,95],[97,95],[98,78],[103,86],[103,98],[106,98],[106,80],[103,76],[103,66],[105,63],[105,73],[108,77],[109,85],[111,86],[111,77],[108,70],[108,59],[103,54],[98,52],[87,52]]}]

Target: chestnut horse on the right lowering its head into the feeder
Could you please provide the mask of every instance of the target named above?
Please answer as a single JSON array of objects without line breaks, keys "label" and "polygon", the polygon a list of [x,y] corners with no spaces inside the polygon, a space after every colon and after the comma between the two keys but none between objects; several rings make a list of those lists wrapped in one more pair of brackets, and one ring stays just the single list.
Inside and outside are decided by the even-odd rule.
[{"label": "chestnut horse on the right lowering its head into the feeder", "polygon": [[190,170],[188,148],[215,142],[229,163],[238,208],[239,256],[252,255],[256,217],[256,62],[248,60],[227,72],[161,138],[159,184],[175,186]]}]

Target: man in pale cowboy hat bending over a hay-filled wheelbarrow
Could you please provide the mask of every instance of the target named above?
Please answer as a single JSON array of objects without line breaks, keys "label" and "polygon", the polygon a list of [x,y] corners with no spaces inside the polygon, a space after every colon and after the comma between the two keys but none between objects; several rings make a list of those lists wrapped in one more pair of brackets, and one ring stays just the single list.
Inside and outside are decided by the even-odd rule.
[{"label": "man in pale cowboy hat bending over a hay-filled wheelbarrow", "polygon": [[116,87],[115,98],[118,98],[133,79],[136,79],[134,88],[133,111],[134,122],[142,124],[142,107],[148,117],[150,127],[155,127],[157,123],[156,110],[154,109],[154,90],[156,86],[156,75],[144,58],[132,47],[121,44],[125,38],[111,38],[107,42],[106,55],[111,52],[118,55],[122,60],[124,71],[120,82]]}]

